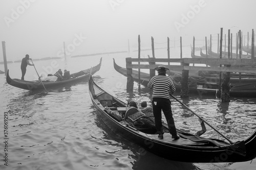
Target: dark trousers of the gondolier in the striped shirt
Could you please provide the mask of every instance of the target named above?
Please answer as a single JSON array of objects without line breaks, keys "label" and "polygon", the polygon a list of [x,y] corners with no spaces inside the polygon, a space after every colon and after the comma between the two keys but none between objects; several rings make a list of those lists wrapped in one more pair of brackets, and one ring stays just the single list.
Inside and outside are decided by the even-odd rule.
[{"label": "dark trousers of the gondolier in the striped shirt", "polygon": [[166,118],[170,134],[177,135],[170,100],[165,98],[153,98],[152,100],[153,113],[155,117],[156,129],[158,134],[162,134],[162,113]]}]

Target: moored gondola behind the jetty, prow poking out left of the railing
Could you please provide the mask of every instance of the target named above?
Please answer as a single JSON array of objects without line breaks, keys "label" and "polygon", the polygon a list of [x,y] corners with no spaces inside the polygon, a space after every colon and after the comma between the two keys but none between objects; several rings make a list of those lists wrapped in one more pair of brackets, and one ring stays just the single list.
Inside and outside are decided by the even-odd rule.
[{"label": "moored gondola behind the jetty, prow poking out left of the railing", "polygon": [[[119,72],[121,75],[127,77],[126,68],[120,67],[119,65],[116,64],[115,59],[113,60],[114,60],[115,70]],[[147,84],[151,78],[150,74],[145,72],[140,72],[140,74],[141,76],[140,76],[140,82],[139,82],[138,71],[133,70],[132,77],[134,81],[147,87]],[[200,95],[217,95],[218,94],[219,80],[217,77],[203,77],[203,80],[201,76],[189,75],[189,77],[191,79],[191,83],[189,84],[189,93],[195,93]],[[172,78],[173,82],[175,83],[176,91],[179,92],[181,90],[180,81],[177,81],[177,79],[180,79],[179,76],[176,76],[176,77],[170,76],[170,78]],[[251,79],[251,82],[249,82],[250,79],[244,79],[244,80],[248,80],[248,83],[245,83],[245,82],[238,83],[237,78],[230,78],[230,83],[232,84],[231,84],[231,89],[229,91],[229,95],[232,97],[239,97],[239,98],[256,98],[255,79]]]}]

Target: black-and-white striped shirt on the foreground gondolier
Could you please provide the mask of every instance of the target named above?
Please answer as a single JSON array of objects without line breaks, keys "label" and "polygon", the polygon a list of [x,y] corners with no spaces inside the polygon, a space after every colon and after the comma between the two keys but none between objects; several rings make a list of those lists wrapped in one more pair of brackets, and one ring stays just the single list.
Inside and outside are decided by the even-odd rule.
[{"label": "black-and-white striped shirt on the foreground gondolier", "polygon": [[153,76],[147,84],[148,88],[153,88],[152,98],[170,98],[176,90],[173,81],[167,76]]}]

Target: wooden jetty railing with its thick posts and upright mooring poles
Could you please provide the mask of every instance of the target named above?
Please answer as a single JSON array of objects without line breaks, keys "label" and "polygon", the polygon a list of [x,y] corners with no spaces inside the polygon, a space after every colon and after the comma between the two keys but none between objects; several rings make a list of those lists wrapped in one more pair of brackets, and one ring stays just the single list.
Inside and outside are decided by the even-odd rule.
[{"label": "wooden jetty railing with its thick posts and upright mooring poles", "polygon": [[[237,46],[239,46],[239,56],[237,50],[237,57],[232,58],[232,34],[230,37],[230,30],[228,30],[228,58],[222,58],[222,36],[223,36],[223,29],[221,28],[221,36],[220,36],[220,46],[219,46],[219,34],[218,34],[218,53],[220,58],[211,58],[211,54],[208,58],[182,58],[182,37],[180,37],[180,59],[178,58],[170,58],[169,56],[169,38],[167,37],[167,59],[165,58],[155,58],[154,53],[154,38],[152,39],[152,54],[153,58],[148,59],[141,59],[140,54],[138,58],[126,58],[126,69],[127,69],[127,91],[128,89],[132,91],[133,87],[133,78],[132,78],[132,69],[150,69],[150,77],[155,76],[155,69],[158,65],[156,62],[166,63],[162,64],[165,65],[169,69],[173,70],[181,70],[182,71],[182,81],[181,81],[181,98],[186,98],[189,95],[189,88],[188,88],[188,75],[189,70],[199,70],[199,71],[219,71],[220,72],[220,81],[219,81],[219,93],[218,97],[221,98],[222,102],[229,102],[229,80],[230,80],[230,72],[239,72],[240,73],[240,80],[241,80],[241,72],[244,73],[255,73],[256,68],[256,60],[254,59],[254,32],[252,30],[252,52],[251,52],[251,59],[242,59],[242,33],[241,31],[237,34]],[[226,37],[226,35],[225,35]],[[249,40],[248,40],[249,42]],[[140,43],[140,41],[139,41]],[[210,35],[210,46],[209,50],[211,53],[211,35]],[[225,38],[225,45],[226,45],[226,38]],[[207,54],[207,38],[205,37],[205,46],[206,46],[206,54]],[[231,48],[230,48],[231,46]],[[219,51],[220,47],[220,51]],[[226,49],[226,48],[225,48]],[[140,45],[139,45],[139,53],[140,53]],[[195,37],[193,39],[193,55],[195,56]],[[207,54],[208,55],[208,54]],[[132,62],[138,62],[138,64],[132,64]],[[148,64],[140,64],[140,62],[148,62]],[[180,63],[180,65],[170,65],[170,63]],[[249,65],[250,67],[230,67],[231,65]],[[193,66],[189,66],[189,64],[193,64]],[[195,66],[195,64],[206,64],[205,66]],[[218,64],[219,67],[207,67],[207,65]],[[223,67],[224,66],[224,67]],[[139,71],[140,74],[140,71]],[[223,75],[223,82],[221,83]],[[140,77],[140,75],[139,75]],[[131,81],[132,80],[132,81]]]}]

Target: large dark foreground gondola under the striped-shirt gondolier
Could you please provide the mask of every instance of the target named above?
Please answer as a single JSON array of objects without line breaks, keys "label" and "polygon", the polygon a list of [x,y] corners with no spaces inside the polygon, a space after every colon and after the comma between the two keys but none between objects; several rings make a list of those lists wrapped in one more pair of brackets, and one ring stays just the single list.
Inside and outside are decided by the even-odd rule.
[{"label": "large dark foreground gondola under the striped-shirt gondolier", "polygon": [[[179,129],[179,139],[172,139],[170,134],[164,134],[164,138],[159,139],[155,128],[127,123],[126,118],[137,110],[132,109],[133,113],[130,109],[125,111],[126,104],[101,89],[92,77],[89,80],[89,94],[104,124],[123,139],[140,145],[144,153],[148,151],[181,162],[243,162],[256,157],[256,131],[247,139],[236,142],[196,136]],[[166,127],[166,124],[163,125]]]}]

